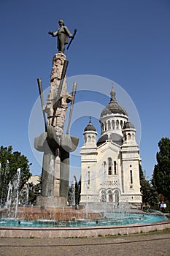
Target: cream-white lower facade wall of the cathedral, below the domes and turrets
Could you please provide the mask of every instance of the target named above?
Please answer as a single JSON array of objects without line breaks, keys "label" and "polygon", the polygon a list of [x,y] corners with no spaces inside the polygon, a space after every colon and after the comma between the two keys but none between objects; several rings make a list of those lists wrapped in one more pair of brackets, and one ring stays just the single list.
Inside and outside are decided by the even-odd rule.
[{"label": "cream-white lower facade wall of the cathedral, below the domes and turrets", "polygon": [[[109,157],[112,159],[112,162],[117,162],[116,175],[114,170],[112,170],[112,175],[108,175],[108,163],[106,170],[104,170],[104,161],[107,162]],[[102,190],[106,192],[107,202],[112,196],[112,203],[115,203],[118,194],[119,203],[140,205],[142,203],[142,196],[139,184],[139,154],[136,152],[131,154],[130,152],[123,152],[122,159],[120,146],[112,143],[111,140],[107,140],[106,143],[99,146],[95,154],[92,154],[91,151],[90,154],[82,154],[82,192],[80,203],[101,202]]]}]

